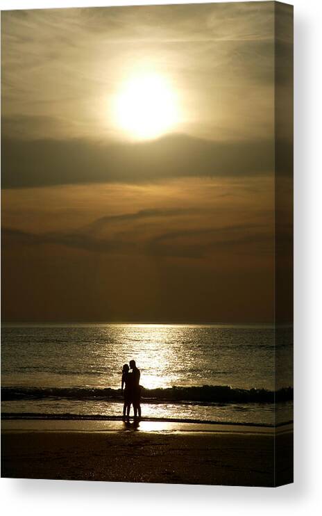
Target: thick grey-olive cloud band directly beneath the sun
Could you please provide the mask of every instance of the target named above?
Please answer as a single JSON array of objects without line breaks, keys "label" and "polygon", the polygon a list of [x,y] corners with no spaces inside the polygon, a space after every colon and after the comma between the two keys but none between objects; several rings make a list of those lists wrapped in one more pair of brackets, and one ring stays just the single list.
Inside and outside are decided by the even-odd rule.
[{"label": "thick grey-olive cloud band directly beneath the sun", "polygon": [[214,142],[183,135],[119,144],[3,138],[1,147],[3,188],[251,177],[271,174],[274,159],[271,140]]}]

